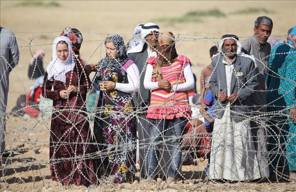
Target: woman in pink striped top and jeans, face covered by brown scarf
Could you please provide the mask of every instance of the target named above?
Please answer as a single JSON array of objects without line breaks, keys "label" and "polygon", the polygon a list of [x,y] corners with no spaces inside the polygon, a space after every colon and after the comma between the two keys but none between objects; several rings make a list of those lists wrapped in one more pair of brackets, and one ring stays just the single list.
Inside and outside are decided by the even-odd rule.
[{"label": "woman in pink striped top and jeans, face covered by brown scarf", "polygon": [[194,88],[191,62],[178,56],[175,37],[166,31],[159,35],[157,58],[150,57],[144,78],[144,87],[151,90],[151,104],[147,111],[150,124],[148,150],[149,180],[155,179],[161,140],[170,131],[170,167],[167,182],[176,177],[181,161],[181,135],[191,117],[187,90]]}]

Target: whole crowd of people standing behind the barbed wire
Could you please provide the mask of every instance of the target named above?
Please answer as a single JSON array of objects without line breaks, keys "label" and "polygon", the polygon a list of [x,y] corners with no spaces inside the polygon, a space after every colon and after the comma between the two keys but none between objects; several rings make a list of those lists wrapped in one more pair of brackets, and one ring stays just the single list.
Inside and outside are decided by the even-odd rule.
[{"label": "whole crowd of people standing behind the barbed wire", "polygon": [[[36,117],[32,106],[41,95],[53,101],[49,166],[63,185],[133,183],[137,171],[139,179],[171,183],[184,177],[184,154],[207,159],[209,180],[296,180],[296,26],[287,42],[272,39],[273,49],[272,28],[262,16],[242,42],[221,36],[201,71],[199,96],[192,63],[176,52],[173,32],[139,24],[127,45],[111,35],[105,57],[85,65],[82,33],[67,27],[53,41],[46,71],[45,52],[33,55],[28,75],[36,85],[13,111]],[[1,159],[13,153],[5,150],[5,122],[9,73],[18,60],[14,34],[1,27]]]}]

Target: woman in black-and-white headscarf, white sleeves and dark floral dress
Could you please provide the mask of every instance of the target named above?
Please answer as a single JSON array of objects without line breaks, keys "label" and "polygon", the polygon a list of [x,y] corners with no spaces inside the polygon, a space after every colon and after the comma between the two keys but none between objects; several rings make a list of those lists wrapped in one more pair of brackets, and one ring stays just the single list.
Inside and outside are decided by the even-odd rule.
[{"label": "woman in black-and-white headscarf, white sleeves and dark floral dress", "polygon": [[136,118],[132,95],[139,88],[139,70],[128,59],[120,35],[105,41],[106,57],[98,63],[93,86],[100,90],[94,134],[101,151],[100,174],[114,183],[132,183],[136,169]]}]

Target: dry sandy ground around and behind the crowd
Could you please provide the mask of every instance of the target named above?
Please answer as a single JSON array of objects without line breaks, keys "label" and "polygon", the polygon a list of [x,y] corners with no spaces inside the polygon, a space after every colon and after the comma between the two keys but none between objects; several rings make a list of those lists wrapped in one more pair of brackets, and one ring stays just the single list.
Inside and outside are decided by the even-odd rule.
[{"label": "dry sandy ground around and behind the crowd", "polygon": [[[210,63],[210,47],[220,42],[223,34],[236,34],[242,41],[253,35],[255,19],[266,15],[274,22],[272,36],[285,39],[287,30],[296,23],[296,1],[57,1],[61,7],[19,7],[16,6],[18,2],[0,1],[0,24],[15,33],[20,49],[19,64],[10,74],[8,113],[15,106],[17,98],[27,94],[34,84],[34,80],[28,79],[27,75],[31,53],[38,49],[45,50],[46,68],[51,61],[51,43],[65,27],[82,31],[81,57],[86,64],[90,64],[104,56],[100,44],[108,34],[123,34],[128,42],[138,23],[154,21],[160,30],[180,34],[178,54],[191,59],[192,69],[199,79],[202,67]],[[274,13],[231,14],[250,7],[265,8]],[[203,21],[198,23],[157,22],[160,18],[179,17],[189,11],[209,9],[219,9],[227,17],[203,17]],[[202,162],[183,166],[186,180],[176,184],[142,181],[93,189],[61,186],[50,179],[49,127],[50,117],[9,116],[7,150],[18,152],[14,152],[11,158],[2,159],[1,191],[296,191],[295,183],[207,183],[198,176],[205,165]]]}]

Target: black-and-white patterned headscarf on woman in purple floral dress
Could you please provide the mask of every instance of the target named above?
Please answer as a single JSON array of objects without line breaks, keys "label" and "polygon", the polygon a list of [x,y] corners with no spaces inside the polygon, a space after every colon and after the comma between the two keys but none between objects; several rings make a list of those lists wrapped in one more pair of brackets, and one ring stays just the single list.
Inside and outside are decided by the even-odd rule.
[{"label": "black-and-white patterned headscarf on woman in purple floral dress", "polygon": [[118,58],[110,59],[106,53],[106,57],[98,63],[98,71],[102,71],[104,69],[117,70],[120,69],[126,61],[128,61],[128,55],[126,54],[126,46],[124,45],[123,38],[120,35],[115,34],[107,37],[106,41],[107,40],[112,40]]}]

